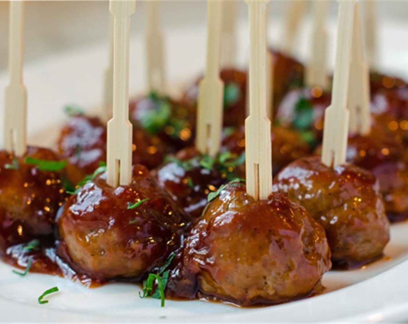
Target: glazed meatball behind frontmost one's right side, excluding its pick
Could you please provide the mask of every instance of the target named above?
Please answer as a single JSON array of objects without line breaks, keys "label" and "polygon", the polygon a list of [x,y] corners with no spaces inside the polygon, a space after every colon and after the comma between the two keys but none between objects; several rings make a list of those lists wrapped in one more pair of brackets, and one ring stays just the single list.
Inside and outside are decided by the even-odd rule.
[{"label": "glazed meatball behind frontmost one's right side, excluding its pick", "polygon": [[351,164],[329,168],[310,156],[284,168],[273,188],[287,192],[323,225],[333,262],[353,267],[382,255],[389,223],[370,172]]}]

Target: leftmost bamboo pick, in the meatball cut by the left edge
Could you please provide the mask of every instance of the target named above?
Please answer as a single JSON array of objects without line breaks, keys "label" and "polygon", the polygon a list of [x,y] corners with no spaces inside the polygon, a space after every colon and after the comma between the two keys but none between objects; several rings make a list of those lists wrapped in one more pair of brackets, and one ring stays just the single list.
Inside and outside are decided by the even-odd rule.
[{"label": "leftmost bamboo pick, in the meatball cut by the left edge", "polygon": [[27,90],[23,82],[24,2],[9,4],[9,74],[4,97],[4,149],[21,156],[27,150]]}]

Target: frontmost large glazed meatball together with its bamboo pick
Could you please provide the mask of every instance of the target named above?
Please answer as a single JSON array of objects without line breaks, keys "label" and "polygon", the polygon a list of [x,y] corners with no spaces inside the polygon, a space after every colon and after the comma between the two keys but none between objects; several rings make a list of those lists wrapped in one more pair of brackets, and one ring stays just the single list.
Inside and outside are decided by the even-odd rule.
[{"label": "frontmost large glazed meatball together with its bamboo pick", "polygon": [[[183,255],[184,267],[197,276],[201,293],[244,306],[307,296],[319,287],[323,273],[330,268],[330,250],[322,227],[285,194],[271,193],[266,3],[247,1],[251,115],[246,134],[255,133],[246,146],[247,186],[233,183],[212,197],[186,238]],[[252,146],[256,149],[248,150]],[[171,287],[177,287],[173,278]]]}]

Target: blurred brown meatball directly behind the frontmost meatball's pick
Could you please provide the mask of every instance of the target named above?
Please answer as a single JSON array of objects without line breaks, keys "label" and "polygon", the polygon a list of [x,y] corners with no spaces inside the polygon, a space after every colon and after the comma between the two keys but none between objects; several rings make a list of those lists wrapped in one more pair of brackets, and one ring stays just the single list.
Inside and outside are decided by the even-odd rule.
[{"label": "blurred brown meatball directly behind the frontmost meatball's pick", "polygon": [[[274,126],[271,133],[272,138],[272,170],[277,174],[279,170],[299,157],[306,156],[312,152],[315,143],[313,136],[297,132],[291,128]],[[222,142],[222,150],[228,150],[238,156],[245,154],[244,128],[226,137]],[[238,166],[235,172],[240,178],[245,177],[245,166]]]}]

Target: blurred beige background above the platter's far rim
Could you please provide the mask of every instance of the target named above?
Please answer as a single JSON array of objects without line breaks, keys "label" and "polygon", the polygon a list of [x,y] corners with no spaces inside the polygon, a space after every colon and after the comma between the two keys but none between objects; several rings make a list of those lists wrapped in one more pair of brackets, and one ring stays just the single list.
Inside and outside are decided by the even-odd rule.
[{"label": "blurred beige background above the platter's far rim", "polygon": [[[303,0],[300,0],[303,1]],[[246,5],[240,5],[239,15],[246,19]],[[270,3],[270,19],[281,20],[289,1]],[[336,15],[336,1],[330,1],[330,16]],[[364,1],[362,1],[364,2]],[[106,42],[108,38],[108,1],[27,1],[25,11],[25,62],[44,59],[77,47]],[[379,22],[406,21],[407,1],[377,2]],[[162,20],[165,29],[188,29],[204,26],[206,2],[197,0],[162,1]],[[132,17],[132,33],[141,33],[144,26],[143,1],[137,1]],[[0,2],[0,72],[7,68],[8,2]],[[407,31],[408,33],[408,31]]]}]

